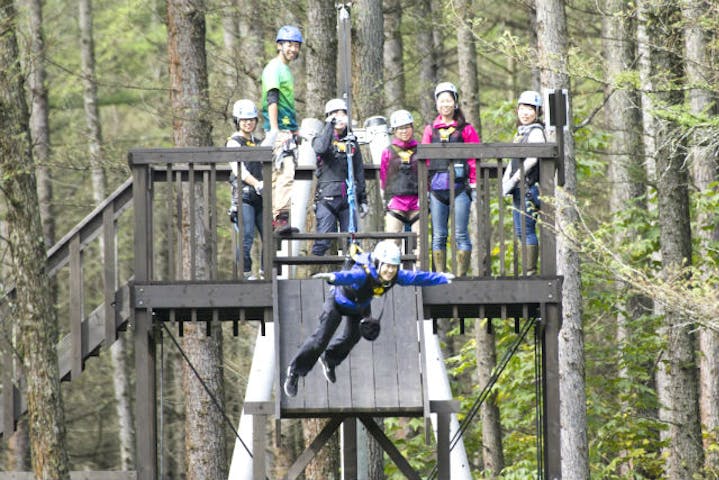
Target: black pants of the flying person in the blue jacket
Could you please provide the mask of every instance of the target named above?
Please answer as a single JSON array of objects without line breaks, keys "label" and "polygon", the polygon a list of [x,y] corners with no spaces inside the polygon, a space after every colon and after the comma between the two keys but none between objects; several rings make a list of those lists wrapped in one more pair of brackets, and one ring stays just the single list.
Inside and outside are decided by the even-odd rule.
[{"label": "black pants of the flying person in the blue jacket", "polygon": [[[343,316],[345,319],[344,330],[332,340],[332,336],[339,327]],[[342,363],[362,336],[359,331],[359,324],[364,316],[366,315],[349,312],[337,305],[334,295],[327,297],[320,314],[320,324],[314,333],[307,337],[295,358],[290,362],[292,369],[298,375],[304,377],[315,366],[322,352],[325,352],[325,359],[330,367],[335,367]],[[330,340],[332,340],[331,344]]]}]

